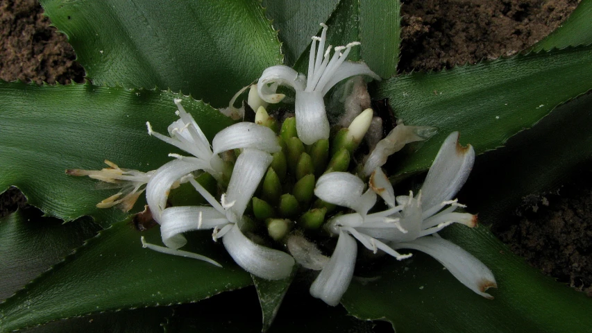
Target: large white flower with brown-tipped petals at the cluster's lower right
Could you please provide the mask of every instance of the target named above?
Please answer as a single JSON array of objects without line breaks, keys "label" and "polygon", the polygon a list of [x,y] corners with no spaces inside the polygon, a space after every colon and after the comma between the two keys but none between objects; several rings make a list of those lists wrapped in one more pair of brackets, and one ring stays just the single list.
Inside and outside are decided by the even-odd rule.
[{"label": "large white flower with brown-tipped petals at the cluster's lower right", "polygon": [[[321,186],[317,185],[315,189],[319,198],[345,205],[357,212],[337,216],[328,223],[328,229],[333,234],[339,234],[339,241],[329,264],[312,284],[312,296],[325,300],[329,305],[339,303],[353,275],[352,263],[355,262],[357,246],[348,235],[351,234],[366,248],[375,253],[379,249],[384,250],[396,259],[410,256],[400,255],[396,251],[400,248],[428,253],[446,266],[466,287],[481,296],[492,298],[484,292],[489,287],[496,287],[496,280],[489,268],[459,246],[435,234],[450,223],[462,223],[469,227],[476,225],[476,216],[454,212],[457,207],[464,206],[458,204],[457,200],[451,200],[464,185],[475,159],[473,147],[460,146],[458,136],[458,133],[452,133],[442,144],[420,194],[415,198],[413,194],[397,197],[398,206],[395,205],[394,190],[388,178],[380,167],[375,169],[370,187],[391,207],[383,212],[366,215],[367,204],[360,205],[361,190],[352,190],[360,187],[361,180],[349,177],[346,180],[344,176],[330,176],[331,173],[319,179]],[[341,178],[341,182],[348,184],[323,180],[329,177]],[[330,193],[332,195],[328,195]],[[358,207],[350,203],[357,203]],[[430,234],[434,237],[424,237]]]}]

